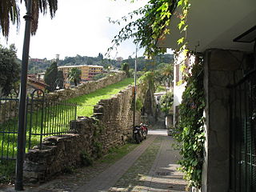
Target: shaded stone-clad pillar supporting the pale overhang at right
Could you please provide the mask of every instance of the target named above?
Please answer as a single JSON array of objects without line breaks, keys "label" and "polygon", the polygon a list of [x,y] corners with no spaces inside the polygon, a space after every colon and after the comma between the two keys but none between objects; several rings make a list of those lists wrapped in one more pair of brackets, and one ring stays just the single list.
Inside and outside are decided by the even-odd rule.
[{"label": "shaded stone-clad pillar supporting the pale overhang at right", "polygon": [[[230,89],[241,78],[243,54],[232,50],[208,50],[205,54],[206,93],[205,163],[202,192],[229,190]],[[240,76],[240,77],[239,77]]]}]

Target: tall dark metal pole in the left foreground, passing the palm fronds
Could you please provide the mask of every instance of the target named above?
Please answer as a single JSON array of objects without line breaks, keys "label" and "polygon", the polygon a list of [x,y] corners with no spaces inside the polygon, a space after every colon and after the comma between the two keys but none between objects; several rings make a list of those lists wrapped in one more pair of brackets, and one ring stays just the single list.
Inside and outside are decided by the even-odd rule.
[{"label": "tall dark metal pole in the left foreground, passing the palm fronds", "polygon": [[26,20],[25,37],[23,42],[22,54],[22,75],[20,85],[19,107],[18,107],[18,153],[16,160],[16,181],[15,190],[23,190],[23,162],[26,146],[26,80],[27,66],[30,51],[30,31],[32,20],[32,0],[28,0],[26,4]]}]

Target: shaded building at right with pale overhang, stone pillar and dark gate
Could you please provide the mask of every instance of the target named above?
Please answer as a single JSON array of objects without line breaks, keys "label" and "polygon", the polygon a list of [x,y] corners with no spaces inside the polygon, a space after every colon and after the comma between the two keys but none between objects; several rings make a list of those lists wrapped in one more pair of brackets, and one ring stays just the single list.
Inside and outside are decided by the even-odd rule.
[{"label": "shaded building at right with pale overhang, stone pillar and dark gate", "polygon": [[201,191],[256,191],[256,1],[190,0],[186,32],[177,27],[181,6],[175,12],[170,34],[159,39],[158,46],[178,50],[178,39],[186,36],[186,48],[203,55],[206,140]]}]

